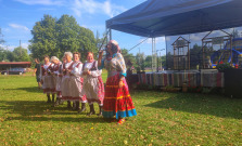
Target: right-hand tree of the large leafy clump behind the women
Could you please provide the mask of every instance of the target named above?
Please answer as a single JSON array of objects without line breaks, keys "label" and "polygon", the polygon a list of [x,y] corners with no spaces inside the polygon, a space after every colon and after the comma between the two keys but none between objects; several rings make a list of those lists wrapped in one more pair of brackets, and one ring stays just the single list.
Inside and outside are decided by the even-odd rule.
[{"label": "right-hand tree of the large leafy clump behind the women", "polygon": [[98,53],[95,38],[91,30],[80,27],[75,17],[62,15],[56,22],[56,38],[59,52],[80,52],[81,59],[86,59],[87,52]]}]

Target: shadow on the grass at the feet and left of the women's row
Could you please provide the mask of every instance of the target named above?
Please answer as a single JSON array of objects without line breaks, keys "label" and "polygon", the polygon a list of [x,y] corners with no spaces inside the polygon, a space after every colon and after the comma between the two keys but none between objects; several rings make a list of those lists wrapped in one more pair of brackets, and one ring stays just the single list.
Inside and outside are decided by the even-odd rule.
[{"label": "shadow on the grass at the feet and left of the women's row", "polygon": [[[51,107],[41,101],[0,101],[1,109],[9,116],[5,120],[24,121],[62,121],[62,122],[106,122],[103,118],[92,115],[87,117],[87,112],[77,114],[66,108],[66,105]],[[85,117],[84,117],[85,116]]]}]

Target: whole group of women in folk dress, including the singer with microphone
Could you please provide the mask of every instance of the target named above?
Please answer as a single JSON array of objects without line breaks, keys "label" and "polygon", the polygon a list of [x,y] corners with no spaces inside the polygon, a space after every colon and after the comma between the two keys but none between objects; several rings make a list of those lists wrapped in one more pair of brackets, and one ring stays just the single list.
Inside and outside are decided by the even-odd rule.
[{"label": "whole group of women in folk dress, including the singer with microphone", "polygon": [[[126,65],[118,43],[111,40],[106,45],[106,55],[99,52],[99,58],[93,58],[93,53],[86,54],[87,61],[82,64],[80,53],[65,52],[62,58],[44,56],[44,64],[41,69],[41,82],[43,93],[47,94],[48,103],[58,106],[67,102],[67,107],[82,112],[86,110],[86,103],[89,104],[88,116],[95,114],[93,103],[99,104],[98,116],[113,118],[118,124],[125,122],[125,117],[136,116],[136,109],[129,94],[126,82]],[[102,68],[107,70],[107,80],[104,84],[101,78]],[[56,101],[54,95],[56,93]],[[50,97],[52,94],[52,101]],[[81,103],[81,108],[80,108]]]}]

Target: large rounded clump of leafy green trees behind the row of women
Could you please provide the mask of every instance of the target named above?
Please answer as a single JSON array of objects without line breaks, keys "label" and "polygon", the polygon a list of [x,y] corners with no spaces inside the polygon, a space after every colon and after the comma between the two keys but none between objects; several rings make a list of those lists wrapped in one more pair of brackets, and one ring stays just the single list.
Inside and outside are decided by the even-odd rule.
[{"label": "large rounded clump of leafy green trees behind the row of women", "polygon": [[34,57],[50,56],[62,57],[64,52],[79,52],[81,59],[86,53],[98,53],[95,38],[91,30],[80,27],[75,17],[62,15],[59,19],[44,15],[37,22],[33,30],[29,50]]}]

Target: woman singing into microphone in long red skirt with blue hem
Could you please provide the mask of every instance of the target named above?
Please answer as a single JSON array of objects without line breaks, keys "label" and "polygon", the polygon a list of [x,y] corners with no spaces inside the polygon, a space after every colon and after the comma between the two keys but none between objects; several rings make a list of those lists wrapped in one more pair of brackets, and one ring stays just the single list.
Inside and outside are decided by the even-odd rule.
[{"label": "woman singing into microphone in long red skirt with blue hem", "polygon": [[116,116],[118,124],[125,122],[125,117],[136,116],[136,109],[126,82],[126,65],[124,57],[118,53],[119,47],[111,40],[106,47],[106,57],[102,59],[103,51],[99,53],[99,68],[107,69],[107,80],[103,101],[103,117]]}]

